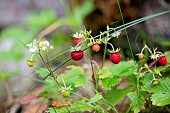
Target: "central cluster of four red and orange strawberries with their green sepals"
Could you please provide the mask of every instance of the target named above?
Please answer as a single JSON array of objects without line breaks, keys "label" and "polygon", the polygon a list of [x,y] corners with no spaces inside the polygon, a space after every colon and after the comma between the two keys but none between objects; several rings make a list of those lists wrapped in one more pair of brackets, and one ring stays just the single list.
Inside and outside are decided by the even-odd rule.
[{"label": "central cluster of four red and orange strawberries with their green sepals", "polygon": [[[115,34],[114,37],[117,37],[119,35],[120,32],[118,34]],[[108,43],[110,37],[107,40],[105,40],[106,38],[102,39],[101,37],[100,39],[95,40],[91,35],[89,35],[90,38],[88,38],[87,35],[83,34],[82,31],[80,33],[76,32],[76,34],[73,34],[73,37],[74,37],[73,42],[76,45],[76,47],[71,48],[71,58],[75,61],[81,60],[84,56],[83,51],[80,50],[80,46],[79,46],[80,43],[83,42],[83,39],[85,41],[88,41],[88,46],[91,46],[94,52],[100,51],[101,43],[110,44],[113,49],[112,51],[110,51],[110,57],[109,57],[110,61],[113,62],[114,64],[118,64],[122,60],[121,54],[119,53],[119,49],[114,50],[113,45],[111,43]]]}]

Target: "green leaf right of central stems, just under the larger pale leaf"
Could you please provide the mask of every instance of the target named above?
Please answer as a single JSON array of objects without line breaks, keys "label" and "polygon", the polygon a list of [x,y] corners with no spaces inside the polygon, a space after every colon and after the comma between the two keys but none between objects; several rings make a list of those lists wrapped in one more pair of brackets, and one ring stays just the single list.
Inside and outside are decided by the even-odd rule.
[{"label": "green leaf right of central stems, just under the larger pale leaf", "polygon": [[107,90],[110,90],[111,86],[117,85],[121,80],[122,79],[119,78],[119,77],[108,77],[108,78],[102,79],[101,80],[102,87],[107,89]]}]

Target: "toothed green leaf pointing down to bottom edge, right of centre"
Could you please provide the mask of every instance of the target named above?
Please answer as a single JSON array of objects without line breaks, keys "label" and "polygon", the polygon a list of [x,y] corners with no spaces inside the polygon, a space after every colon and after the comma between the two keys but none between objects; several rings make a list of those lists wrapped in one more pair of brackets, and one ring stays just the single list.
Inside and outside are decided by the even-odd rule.
[{"label": "toothed green leaf pointing down to bottom edge, right of centre", "polygon": [[139,91],[139,94],[137,91],[135,92],[130,92],[128,94],[128,97],[132,101],[131,107],[134,110],[134,113],[138,113],[140,109],[144,109],[144,103],[145,103],[145,98],[147,97],[147,93],[143,91]]}]

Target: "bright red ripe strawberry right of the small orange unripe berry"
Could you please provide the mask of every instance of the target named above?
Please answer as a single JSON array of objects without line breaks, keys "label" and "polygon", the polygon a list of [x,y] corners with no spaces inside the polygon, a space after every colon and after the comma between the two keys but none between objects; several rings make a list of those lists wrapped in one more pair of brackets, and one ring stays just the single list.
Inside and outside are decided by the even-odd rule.
[{"label": "bright red ripe strawberry right of the small orange unripe berry", "polygon": [[112,61],[114,64],[118,64],[122,60],[122,57],[119,52],[111,53],[109,58],[110,61]]}]

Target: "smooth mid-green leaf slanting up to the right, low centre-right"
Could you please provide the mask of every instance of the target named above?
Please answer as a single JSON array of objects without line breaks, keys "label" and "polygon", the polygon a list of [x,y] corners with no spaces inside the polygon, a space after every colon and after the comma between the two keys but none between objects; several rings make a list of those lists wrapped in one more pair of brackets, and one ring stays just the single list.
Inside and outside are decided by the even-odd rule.
[{"label": "smooth mid-green leaf slanting up to the right, low centre-right", "polygon": [[116,103],[123,100],[127,93],[132,90],[132,88],[132,86],[128,86],[124,89],[116,89],[116,87],[113,87],[110,91],[108,91],[106,100],[115,105]]}]

